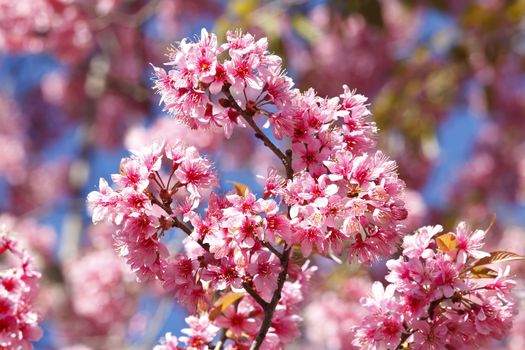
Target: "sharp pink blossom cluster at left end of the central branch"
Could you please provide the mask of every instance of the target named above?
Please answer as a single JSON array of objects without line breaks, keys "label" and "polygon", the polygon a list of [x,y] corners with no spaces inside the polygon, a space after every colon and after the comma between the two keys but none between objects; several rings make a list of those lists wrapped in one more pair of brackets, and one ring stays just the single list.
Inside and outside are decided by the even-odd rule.
[{"label": "sharp pink blossom cluster at left end of the central branch", "polygon": [[[169,172],[166,182],[162,171]],[[119,253],[140,279],[159,277],[168,255],[159,239],[173,225],[164,216],[173,213],[172,196],[185,192],[178,210],[196,208],[201,192],[216,183],[211,163],[194,147],[155,143],[122,159],[120,173],[111,178],[117,189],[100,179],[99,191],[88,195],[93,222],[107,220],[119,227],[114,234]],[[170,208],[169,213],[163,207]]]}]

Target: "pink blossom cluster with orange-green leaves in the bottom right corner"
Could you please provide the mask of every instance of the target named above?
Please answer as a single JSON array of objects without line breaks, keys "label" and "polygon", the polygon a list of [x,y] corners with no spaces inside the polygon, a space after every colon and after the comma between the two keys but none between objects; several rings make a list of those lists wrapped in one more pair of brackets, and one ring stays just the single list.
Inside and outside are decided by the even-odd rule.
[{"label": "pink blossom cluster with orange-green leaves in the bottom right corner", "polygon": [[455,232],[442,230],[426,226],[405,236],[403,255],[387,262],[390,284],[375,282],[362,300],[368,315],[355,328],[355,346],[474,349],[509,332],[516,281],[509,266],[490,265],[523,257],[481,250],[486,231],[463,222]]}]

